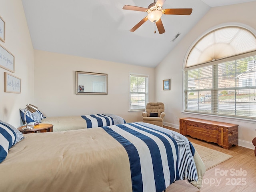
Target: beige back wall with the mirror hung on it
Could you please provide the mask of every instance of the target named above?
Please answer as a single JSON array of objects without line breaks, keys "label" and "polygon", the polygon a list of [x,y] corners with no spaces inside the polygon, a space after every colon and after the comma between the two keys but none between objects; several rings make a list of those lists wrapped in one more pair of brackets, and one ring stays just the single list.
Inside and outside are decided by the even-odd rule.
[{"label": "beige back wall with the mirror hung on it", "polygon": [[[142,121],[129,110],[129,72],[149,75],[149,99],[154,101],[154,68],[132,66],[40,50],[34,51],[35,104],[46,116],[112,113],[127,122]],[[108,74],[107,95],[75,94],[75,71]]]}]

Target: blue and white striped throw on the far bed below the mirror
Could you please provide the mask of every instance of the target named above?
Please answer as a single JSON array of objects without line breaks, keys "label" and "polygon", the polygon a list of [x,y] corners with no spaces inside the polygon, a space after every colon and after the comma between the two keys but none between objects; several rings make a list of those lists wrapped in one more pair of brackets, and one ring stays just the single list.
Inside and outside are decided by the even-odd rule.
[{"label": "blue and white striped throw on the far bed below the mirror", "polygon": [[126,123],[126,121],[120,116],[114,114],[93,114],[93,115],[82,115],[86,120],[87,128],[102,127],[110,125],[118,125]]}]

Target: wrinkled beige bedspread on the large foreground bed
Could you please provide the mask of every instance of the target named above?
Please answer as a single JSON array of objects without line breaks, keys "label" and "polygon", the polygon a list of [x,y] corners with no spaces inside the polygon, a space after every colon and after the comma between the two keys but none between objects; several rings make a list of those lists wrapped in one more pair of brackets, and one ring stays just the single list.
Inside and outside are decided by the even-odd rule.
[{"label": "wrinkled beige bedspread on the large foreground bed", "polygon": [[131,192],[126,150],[101,128],[25,134],[0,164],[1,192]]}]

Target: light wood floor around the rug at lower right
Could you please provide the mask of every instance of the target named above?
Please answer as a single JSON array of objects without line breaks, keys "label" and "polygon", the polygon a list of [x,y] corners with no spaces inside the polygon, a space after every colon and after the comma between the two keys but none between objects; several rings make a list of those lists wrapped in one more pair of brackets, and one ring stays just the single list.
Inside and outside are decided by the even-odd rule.
[{"label": "light wood floor around the rug at lower right", "polygon": [[[164,126],[170,130],[179,130]],[[254,192],[256,191],[256,157],[254,150],[232,146],[230,150],[224,149],[214,143],[187,138],[196,144],[230,154],[233,157],[209,169],[204,174],[203,186],[200,190],[192,184],[175,181],[166,192]],[[225,174],[226,172],[226,174]]]}]

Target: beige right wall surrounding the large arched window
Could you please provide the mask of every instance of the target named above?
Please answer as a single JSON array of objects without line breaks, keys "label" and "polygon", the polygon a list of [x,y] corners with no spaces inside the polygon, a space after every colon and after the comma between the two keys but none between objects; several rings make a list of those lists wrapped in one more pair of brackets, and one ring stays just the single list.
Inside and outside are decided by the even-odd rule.
[{"label": "beige right wall surrounding the large arched window", "polygon": [[[236,4],[211,8],[209,12],[194,26],[194,28],[180,41],[180,43],[166,56],[156,67],[156,100],[164,102],[166,117],[164,124],[179,128],[177,118],[194,117],[208,120],[216,120],[228,123],[239,124],[238,145],[253,148],[252,139],[256,136],[255,121],[237,120],[232,118],[220,118],[212,116],[194,115],[182,113],[183,111],[183,66],[184,58],[192,44],[202,34],[205,34],[215,26],[227,23],[248,25],[256,29],[256,2]],[[256,34],[255,34],[256,35]],[[162,90],[162,80],[171,79],[171,90]]]}]

